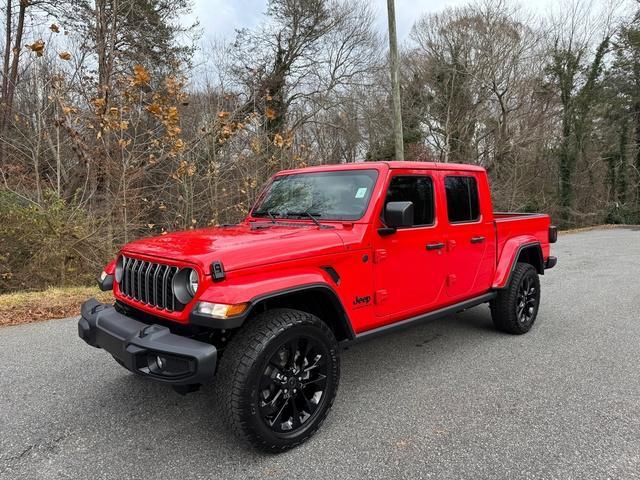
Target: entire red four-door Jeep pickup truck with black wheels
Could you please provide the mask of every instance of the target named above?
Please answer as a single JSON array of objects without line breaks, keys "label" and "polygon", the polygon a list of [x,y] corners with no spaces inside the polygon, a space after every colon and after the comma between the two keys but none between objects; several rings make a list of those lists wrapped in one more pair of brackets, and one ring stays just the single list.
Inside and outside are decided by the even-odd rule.
[{"label": "entire red four-door Jeep pickup truck with black wheels", "polygon": [[232,430],[277,452],[334,401],[340,346],[488,303],[523,334],[556,264],[542,214],[494,213],[471,165],[366,162],[283,171],[247,218],[125,245],[82,305],[80,337],[186,393],[215,378]]}]

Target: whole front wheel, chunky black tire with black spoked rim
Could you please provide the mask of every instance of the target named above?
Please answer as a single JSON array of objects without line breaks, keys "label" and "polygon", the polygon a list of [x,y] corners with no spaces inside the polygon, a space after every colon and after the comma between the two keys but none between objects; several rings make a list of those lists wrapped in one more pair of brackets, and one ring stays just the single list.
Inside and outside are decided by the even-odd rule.
[{"label": "whole front wheel, chunky black tire with black spoked rim", "polygon": [[338,343],[326,323],[298,310],[266,311],[224,352],[220,408],[232,430],[254,447],[288,450],[320,428],[339,377]]}]

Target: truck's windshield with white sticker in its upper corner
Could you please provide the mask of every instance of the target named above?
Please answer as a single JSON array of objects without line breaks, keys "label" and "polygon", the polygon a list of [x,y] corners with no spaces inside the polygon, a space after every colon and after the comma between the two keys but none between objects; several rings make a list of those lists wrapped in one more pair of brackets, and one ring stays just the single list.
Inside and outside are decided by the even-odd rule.
[{"label": "truck's windshield with white sticker in its upper corner", "polygon": [[254,217],[359,220],[369,205],[376,170],[296,173],[276,177]]}]

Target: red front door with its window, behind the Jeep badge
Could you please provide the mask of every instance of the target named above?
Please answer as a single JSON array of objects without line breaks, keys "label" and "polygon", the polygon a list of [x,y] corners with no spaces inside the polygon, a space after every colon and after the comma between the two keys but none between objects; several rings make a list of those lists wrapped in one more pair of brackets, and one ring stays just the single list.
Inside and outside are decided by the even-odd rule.
[{"label": "red front door with its window, behind the Jeep badge", "polygon": [[426,310],[443,291],[444,231],[436,216],[434,187],[433,176],[420,170],[398,171],[389,181],[385,205],[413,202],[414,221],[411,227],[376,237],[374,300],[378,325]]}]

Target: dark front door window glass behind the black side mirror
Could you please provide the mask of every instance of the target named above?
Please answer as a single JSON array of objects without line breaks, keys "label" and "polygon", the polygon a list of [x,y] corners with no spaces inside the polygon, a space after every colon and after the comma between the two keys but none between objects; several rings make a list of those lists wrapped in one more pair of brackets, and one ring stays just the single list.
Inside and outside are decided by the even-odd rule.
[{"label": "dark front door window glass behind the black side mirror", "polygon": [[423,176],[398,176],[391,179],[388,202],[413,202],[413,225],[433,225],[433,180]]}]

